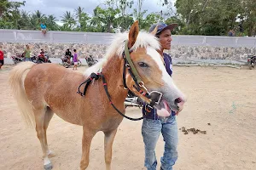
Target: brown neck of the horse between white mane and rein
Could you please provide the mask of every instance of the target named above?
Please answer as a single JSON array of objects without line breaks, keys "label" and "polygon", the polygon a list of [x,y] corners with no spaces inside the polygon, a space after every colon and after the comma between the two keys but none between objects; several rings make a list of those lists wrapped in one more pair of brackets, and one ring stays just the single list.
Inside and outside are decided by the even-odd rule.
[{"label": "brown neck of the horse between white mane and rein", "polygon": [[114,105],[124,105],[128,93],[123,88],[123,64],[123,59],[119,56],[113,56],[108,59],[106,65],[102,68],[102,74],[108,84],[108,92]]}]

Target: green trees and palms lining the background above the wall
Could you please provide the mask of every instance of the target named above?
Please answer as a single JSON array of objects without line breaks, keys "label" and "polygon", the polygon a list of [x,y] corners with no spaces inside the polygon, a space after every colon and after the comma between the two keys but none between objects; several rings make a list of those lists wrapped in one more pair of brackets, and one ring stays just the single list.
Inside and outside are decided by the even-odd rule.
[{"label": "green trees and palms lining the background above the wall", "polygon": [[[93,14],[78,7],[66,11],[61,20],[41,11],[27,12],[20,7],[26,2],[0,2],[0,28],[39,30],[44,22],[50,31],[95,31],[116,32],[128,30],[134,20],[139,20],[141,29],[148,28],[160,21],[166,24],[177,23],[172,34],[222,36],[230,29],[236,36],[256,34],[255,0],[159,0],[162,10],[148,13],[143,10],[145,0],[105,0],[98,5]],[[173,5],[175,8],[173,8]],[[62,23],[58,25],[57,23]]]}]

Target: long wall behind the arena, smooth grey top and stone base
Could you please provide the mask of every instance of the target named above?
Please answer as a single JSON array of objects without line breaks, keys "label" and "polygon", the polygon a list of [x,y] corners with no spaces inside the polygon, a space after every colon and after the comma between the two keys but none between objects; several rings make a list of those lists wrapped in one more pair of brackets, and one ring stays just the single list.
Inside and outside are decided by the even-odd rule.
[{"label": "long wall behind the arena, smooth grey top and stone base", "polygon": [[[114,35],[74,31],[48,31],[43,35],[41,31],[0,29],[0,48],[10,57],[21,54],[26,43],[29,43],[32,54],[37,55],[44,48],[51,58],[60,58],[67,48],[76,48],[81,58],[91,54],[101,59]],[[176,61],[245,60],[247,55],[256,54],[256,37],[173,35],[172,50],[167,53],[172,54]]]}]

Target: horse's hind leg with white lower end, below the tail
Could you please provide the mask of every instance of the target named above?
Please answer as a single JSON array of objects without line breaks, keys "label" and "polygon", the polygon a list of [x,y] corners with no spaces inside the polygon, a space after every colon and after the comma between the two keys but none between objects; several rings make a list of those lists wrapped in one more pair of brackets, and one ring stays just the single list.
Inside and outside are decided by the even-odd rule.
[{"label": "horse's hind leg with white lower end, below the tail", "polygon": [[[49,161],[49,149],[47,145],[47,139],[46,139],[46,128],[48,127],[49,122],[47,123],[45,121],[45,126],[44,126],[44,119],[46,116],[47,108],[42,107],[40,109],[33,110],[34,115],[35,115],[35,121],[36,121],[36,131],[38,133],[38,139],[40,141],[42,151],[43,151],[43,159],[44,159],[44,169],[45,170],[50,170],[52,169],[52,164]],[[46,116],[47,120],[50,120],[50,116]],[[46,127],[46,128],[45,128]],[[45,128],[45,130],[44,130]]]}]

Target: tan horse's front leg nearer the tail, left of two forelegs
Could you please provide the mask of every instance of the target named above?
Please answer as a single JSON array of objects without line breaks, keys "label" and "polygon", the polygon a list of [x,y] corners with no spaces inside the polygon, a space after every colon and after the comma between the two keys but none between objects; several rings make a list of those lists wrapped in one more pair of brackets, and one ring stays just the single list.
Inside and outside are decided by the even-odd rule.
[{"label": "tan horse's front leg nearer the tail, left of two forelegs", "polygon": [[90,143],[96,133],[90,131],[87,127],[83,127],[82,139],[82,158],[80,161],[80,170],[85,170],[89,165]]}]

